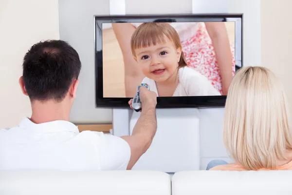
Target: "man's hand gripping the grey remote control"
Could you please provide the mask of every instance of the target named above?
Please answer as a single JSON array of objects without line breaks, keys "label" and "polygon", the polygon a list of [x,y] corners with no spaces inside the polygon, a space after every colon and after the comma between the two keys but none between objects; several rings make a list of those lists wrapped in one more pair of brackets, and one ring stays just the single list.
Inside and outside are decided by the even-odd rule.
[{"label": "man's hand gripping the grey remote control", "polygon": [[[157,95],[155,92],[149,91],[146,89],[146,87],[140,87],[139,89],[140,92],[140,100],[141,100],[141,107],[143,108],[155,108],[157,104]],[[132,101],[133,99],[130,99],[128,101],[128,104],[131,109],[132,107]]]}]

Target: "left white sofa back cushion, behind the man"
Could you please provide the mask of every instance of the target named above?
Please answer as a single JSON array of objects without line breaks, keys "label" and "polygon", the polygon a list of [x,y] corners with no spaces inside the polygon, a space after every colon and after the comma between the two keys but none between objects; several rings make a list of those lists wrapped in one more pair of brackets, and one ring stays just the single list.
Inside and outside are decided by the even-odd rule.
[{"label": "left white sofa back cushion, behind the man", "polygon": [[156,171],[0,171],[0,195],[171,195]]}]

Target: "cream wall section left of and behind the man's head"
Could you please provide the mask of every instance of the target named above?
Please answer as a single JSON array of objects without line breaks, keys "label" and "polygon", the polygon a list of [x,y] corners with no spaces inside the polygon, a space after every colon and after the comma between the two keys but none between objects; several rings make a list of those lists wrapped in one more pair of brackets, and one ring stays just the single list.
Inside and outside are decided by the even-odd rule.
[{"label": "cream wall section left of and behind the man's head", "polygon": [[41,39],[59,39],[58,0],[0,0],[0,128],[30,117],[18,78],[22,59]]}]

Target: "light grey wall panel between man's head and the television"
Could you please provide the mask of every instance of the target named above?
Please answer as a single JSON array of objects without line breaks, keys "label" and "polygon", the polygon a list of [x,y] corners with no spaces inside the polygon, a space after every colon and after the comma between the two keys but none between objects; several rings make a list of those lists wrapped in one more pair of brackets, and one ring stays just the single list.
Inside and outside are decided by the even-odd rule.
[{"label": "light grey wall panel between man's head and the television", "polygon": [[70,115],[73,122],[111,122],[111,109],[95,108],[94,15],[109,15],[109,0],[59,0],[60,39],[78,52],[82,69]]}]

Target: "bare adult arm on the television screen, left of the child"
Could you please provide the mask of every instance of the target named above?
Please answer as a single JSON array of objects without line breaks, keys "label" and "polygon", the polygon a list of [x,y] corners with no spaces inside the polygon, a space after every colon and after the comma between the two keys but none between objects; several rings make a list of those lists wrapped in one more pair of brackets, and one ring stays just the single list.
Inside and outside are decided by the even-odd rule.
[{"label": "bare adult arm on the television screen, left of the child", "polygon": [[126,98],[133,98],[144,75],[131,51],[131,37],[136,28],[131,23],[112,23],[112,29],[121,48],[125,65]]}]

